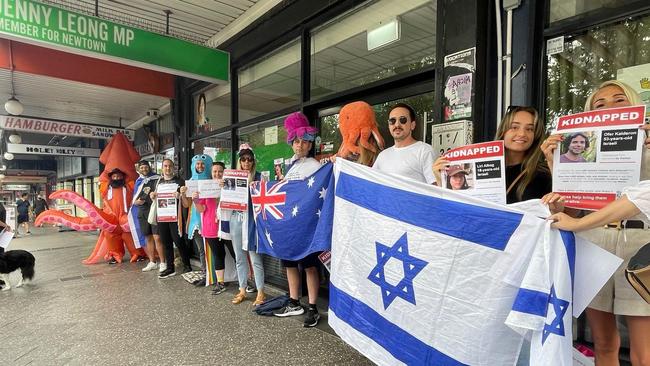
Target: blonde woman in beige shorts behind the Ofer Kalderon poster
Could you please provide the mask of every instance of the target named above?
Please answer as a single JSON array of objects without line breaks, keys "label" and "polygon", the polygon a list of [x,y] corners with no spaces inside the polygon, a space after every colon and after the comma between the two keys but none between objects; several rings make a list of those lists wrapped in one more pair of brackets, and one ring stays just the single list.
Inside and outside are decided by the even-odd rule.
[{"label": "blonde woman in beige shorts behind the Ofer Kalderon poster", "polygon": [[[587,98],[585,111],[640,104],[642,104],[641,98],[631,87],[620,81],[610,80],[602,83]],[[642,128],[649,129],[648,125]],[[561,140],[561,135],[553,135],[542,145],[544,155],[546,155],[551,168],[553,152]],[[645,146],[650,148],[650,139],[646,138]],[[643,150],[642,181],[650,179],[650,154],[648,149]],[[622,201],[625,200],[627,198],[623,198],[616,205],[623,204]],[[607,211],[604,213],[606,214]],[[598,216],[585,217],[581,221],[590,222],[597,218]],[[625,230],[619,230],[621,227],[624,227]],[[598,365],[618,365],[618,349],[621,340],[616,326],[616,315],[625,315],[627,319],[632,364],[650,364],[650,332],[648,332],[650,329],[650,305],[630,286],[624,274],[630,258],[650,239],[650,230],[647,227],[639,220],[628,220],[623,223],[617,220],[613,224],[581,234],[603,249],[624,259],[623,265],[587,308],[587,321],[593,334],[596,364]]]}]

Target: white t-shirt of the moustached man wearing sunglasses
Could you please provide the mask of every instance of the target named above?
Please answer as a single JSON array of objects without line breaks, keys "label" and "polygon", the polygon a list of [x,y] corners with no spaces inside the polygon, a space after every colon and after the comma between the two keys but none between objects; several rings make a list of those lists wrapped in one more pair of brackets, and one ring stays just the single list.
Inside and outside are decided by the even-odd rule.
[{"label": "white t-shirt of the moustached man wearing sunglasses", "polygon": [[432,184],[436,181],[433,175],[434,160],[431,145],[417,141],[406,147],[392,146],[380,152],[372,167],[385,173]]}]

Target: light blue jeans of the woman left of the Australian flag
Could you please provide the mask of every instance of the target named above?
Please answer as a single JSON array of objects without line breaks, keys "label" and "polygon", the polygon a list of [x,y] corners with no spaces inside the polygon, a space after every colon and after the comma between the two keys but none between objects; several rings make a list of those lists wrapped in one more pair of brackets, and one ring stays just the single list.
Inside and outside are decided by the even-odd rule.
[{"label": "light blue jeans of the woman left of the Australian flag", "polygon": [[[242,219],[243,214],[239,211],[233,212],[230,218],[230,236],[232,237],[233,249],[235,249],[235,267],[237,267],[239,288],[246,288],[246,281],[248,280],[248,261],[246,260],[246,254],[248,253],[253,264],[255,287],[260,291],[264,289],[264,264],[262,263],[262,256],[257,254],[257,252],[242,249],[242,231],[244,230],[242,228]],[[248,238],[248,240],[257,240],[257,237]]]}]

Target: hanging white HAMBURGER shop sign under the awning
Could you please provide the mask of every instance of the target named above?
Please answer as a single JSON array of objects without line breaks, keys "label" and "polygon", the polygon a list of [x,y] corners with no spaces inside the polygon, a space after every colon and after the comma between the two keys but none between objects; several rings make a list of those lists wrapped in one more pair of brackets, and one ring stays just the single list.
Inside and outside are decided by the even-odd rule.
[{"label": "hanging white HAMBURGER shop sign under the awning", "polygon": [[117,132],[122,132],[130,141],[133,141],[135,136],[133,130],[127,130],[124,128],[16,116],[0,116],[0,128],[5,130],[42,133],[46,135],[66,135],[103,140],[110,140]]}]

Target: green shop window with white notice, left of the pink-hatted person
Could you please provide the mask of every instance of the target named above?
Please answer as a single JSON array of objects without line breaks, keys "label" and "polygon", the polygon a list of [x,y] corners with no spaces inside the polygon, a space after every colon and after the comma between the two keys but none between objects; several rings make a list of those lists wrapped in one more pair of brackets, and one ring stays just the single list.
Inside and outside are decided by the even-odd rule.
[{"label": "green shop window with white notice, left of the pink-hatted person", "polygon": [[276,159],[285,160],[293,156],[293,150],[287,144],[287,131],[283,127],[285,117],[274,118],[238,131],[239,142],[247,142],[255,152],[257,171],[269,179],[274,177]]}]

